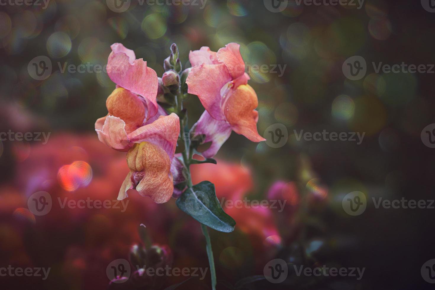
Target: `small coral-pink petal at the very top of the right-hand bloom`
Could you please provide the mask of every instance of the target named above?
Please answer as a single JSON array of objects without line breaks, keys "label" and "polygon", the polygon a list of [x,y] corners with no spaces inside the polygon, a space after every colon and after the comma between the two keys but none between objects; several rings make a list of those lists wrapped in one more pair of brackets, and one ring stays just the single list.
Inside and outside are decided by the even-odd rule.
[{"label": "small coral-pink petal at the very top of the right-hand bloom", "polygon": [[225,63],[233,79],[237,79],[245,72],[245,64],[240,54],[240,44],[228,43],[218,50],[218,60]]}]

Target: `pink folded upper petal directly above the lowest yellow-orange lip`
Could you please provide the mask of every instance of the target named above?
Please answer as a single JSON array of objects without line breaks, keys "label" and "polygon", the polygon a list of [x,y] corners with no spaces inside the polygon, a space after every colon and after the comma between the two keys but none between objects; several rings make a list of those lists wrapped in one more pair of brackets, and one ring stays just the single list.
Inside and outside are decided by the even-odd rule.
[{"label": "pink folded upper petal directly above the lowest yellow-orange lip", "polygon": [[177,114],[160,116],[153,123],[142,126],[128,134],[131,143],[151,142],[164,151],[172,160],[180,134],[180,119]]}]

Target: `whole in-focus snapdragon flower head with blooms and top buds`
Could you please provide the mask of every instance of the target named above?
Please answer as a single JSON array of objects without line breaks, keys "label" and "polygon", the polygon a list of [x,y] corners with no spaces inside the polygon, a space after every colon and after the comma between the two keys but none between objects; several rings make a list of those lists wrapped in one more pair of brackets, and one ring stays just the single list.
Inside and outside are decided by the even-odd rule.
[{"label": "whole in-focus snapdragon flower head with blooms and top buds", "polygon": [[[161,78],[146,61],[136,59],[133,50],[120,43],[111,49],[107,74],[116,88],[106,100],[107,116],[97,120],[95,130],[107,146],[127,151],[130,172],[118,200],[127,197],[127,190],[135,189],[156,203],[164,203],[173,195],[179,196],[188,185],[190,176],[183,169],[188,168],[191,154],[187,160],[175,154],[186,117],[180,102],[188,93],[197,95],[205,108],[191,129],[191,136],[204,135],[204,142],[211,142],[201,153],[204,157],[213,157],[231,131],[254,142],[264,140],[257,132],[257,95],[248,85],[237,43],[229,43],[218,52],[208,47],[191,51],[192,68],[183,72],[173,44]],[[190,147],[191,140],[184,146]]]}]

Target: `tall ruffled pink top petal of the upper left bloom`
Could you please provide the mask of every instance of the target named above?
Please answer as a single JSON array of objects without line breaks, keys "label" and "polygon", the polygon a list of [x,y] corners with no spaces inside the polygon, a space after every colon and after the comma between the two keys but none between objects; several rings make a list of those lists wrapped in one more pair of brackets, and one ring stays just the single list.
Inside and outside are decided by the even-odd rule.
[{"label": "tall ruffled pink top petal of the upper left bloom", "polygon": [[[147,67],[147,62],[138,59],[131,61],[134,53],[122,44],[115,43],[107,60],[107,74],[118,86],[137,93],[149,100],[148,118],[157,113],[157,73]],[[122,46],[122,47],[121,47]]]}]

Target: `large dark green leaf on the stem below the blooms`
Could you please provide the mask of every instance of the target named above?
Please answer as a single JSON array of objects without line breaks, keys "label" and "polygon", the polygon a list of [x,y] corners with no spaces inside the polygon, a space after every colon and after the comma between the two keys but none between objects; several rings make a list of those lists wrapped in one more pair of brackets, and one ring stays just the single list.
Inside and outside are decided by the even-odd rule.
[{"label": "large dark green leaf on the stem below the blooms", "polygon": [[179,209],[207,227],[224,233],[234,230],[236,222],[222,209],[210,181],[187,188],[176,203]]}]

